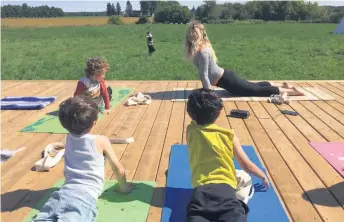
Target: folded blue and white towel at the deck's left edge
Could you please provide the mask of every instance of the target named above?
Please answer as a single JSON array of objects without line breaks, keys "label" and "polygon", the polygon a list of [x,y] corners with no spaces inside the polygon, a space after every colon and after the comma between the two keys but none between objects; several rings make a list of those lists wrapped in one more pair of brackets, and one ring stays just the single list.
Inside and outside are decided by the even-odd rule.
[{"label": "folded blue and white towel at the deck's left edge", "polygon": [[51,97],[11,97],[0,100],[1,110],[39,110],[56,100]]}]

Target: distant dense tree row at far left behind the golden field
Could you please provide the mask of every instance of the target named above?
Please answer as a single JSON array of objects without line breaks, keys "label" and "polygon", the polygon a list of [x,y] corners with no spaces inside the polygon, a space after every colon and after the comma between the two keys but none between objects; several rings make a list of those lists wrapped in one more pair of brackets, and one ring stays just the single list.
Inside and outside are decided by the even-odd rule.
[{"label": "distant dense tree row at far left behind the golden field", "polygon": [[61,8],[42,5],[30,7],[27,4],[5,5],[1,7],[1,18],[52,18],[62,17],[64,12]]}]

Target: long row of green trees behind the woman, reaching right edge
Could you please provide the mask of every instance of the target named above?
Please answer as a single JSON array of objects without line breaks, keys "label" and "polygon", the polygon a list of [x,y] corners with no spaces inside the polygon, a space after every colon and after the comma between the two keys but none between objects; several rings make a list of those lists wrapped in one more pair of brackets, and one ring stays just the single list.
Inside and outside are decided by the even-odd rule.
[{"label": "long row of green trees behind the woman, reaching right edge", "polygon": [[203,22],[257,19],[338,23],[344,17],[344,7],[319,6],[317,2],[305,1],[249,1],[245,4],[205,1],[197,9],[192,8],[191,13]]}]

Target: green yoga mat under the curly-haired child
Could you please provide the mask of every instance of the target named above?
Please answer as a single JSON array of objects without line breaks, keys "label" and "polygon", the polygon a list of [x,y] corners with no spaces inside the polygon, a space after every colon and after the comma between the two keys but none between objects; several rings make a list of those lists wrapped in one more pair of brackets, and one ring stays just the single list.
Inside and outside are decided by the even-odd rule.
[{"label": "green yoga mat under the curly-haired child", "polygon": [[[118,105],[124,98],[132,92],[131,88],[112,88],[112,100],[111,108]],[[103,118],[104,115],[99,114],[99,119]],[[54,111],[46,114],[42,119],[37,120],[29,126],[21,129],[19,132],[30,132],[30,133],[68,133],[68,131],[62,127],[59,118],[58,111]]]}]

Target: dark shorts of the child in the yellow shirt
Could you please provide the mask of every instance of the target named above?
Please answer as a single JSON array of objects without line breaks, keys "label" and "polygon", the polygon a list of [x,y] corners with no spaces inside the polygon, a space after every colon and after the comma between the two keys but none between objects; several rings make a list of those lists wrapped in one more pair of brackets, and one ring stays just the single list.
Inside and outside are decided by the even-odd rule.
[{"label": "dark shorts of the child in the yellow shirt", "polygon": [[238,200],[227,184],[207,184],[193,190],[187,207],[188,222],[246,222],[248,206]]}]

